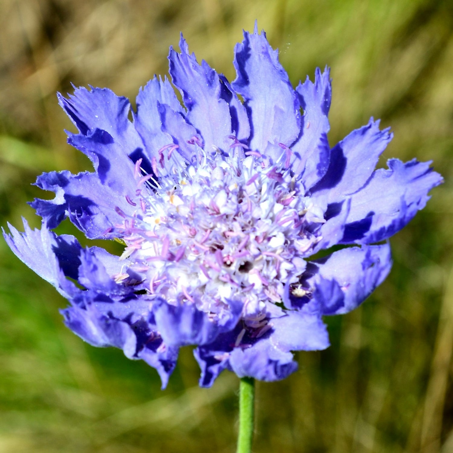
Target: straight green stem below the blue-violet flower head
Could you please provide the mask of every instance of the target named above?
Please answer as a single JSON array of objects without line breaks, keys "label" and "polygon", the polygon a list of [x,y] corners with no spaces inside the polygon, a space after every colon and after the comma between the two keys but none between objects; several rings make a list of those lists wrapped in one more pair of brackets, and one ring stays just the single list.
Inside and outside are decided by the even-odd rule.
[{"label": "straight green stem below the blue-violet flower head", "polygon": [[255,379],[241,378],[239,387],[239,435],[237,453],[251,453],[255,417]]}]

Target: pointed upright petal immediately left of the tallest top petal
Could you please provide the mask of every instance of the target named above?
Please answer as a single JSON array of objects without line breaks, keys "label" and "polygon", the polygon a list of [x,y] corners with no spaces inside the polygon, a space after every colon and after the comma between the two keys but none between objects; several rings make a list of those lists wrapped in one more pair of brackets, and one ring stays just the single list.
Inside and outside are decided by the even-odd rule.
[{"label": "pointed upright petal immediately left of the tallest top petal", "polygon": [[188,109],[187,120],[200,131],[204,149],[209,153],[217,148],[227,151],[231,140],[231,117],[228,104],[221,97],[217,72],[203,60],[198,64],[181,34],[181,53],[170,47],[170,75]]}]

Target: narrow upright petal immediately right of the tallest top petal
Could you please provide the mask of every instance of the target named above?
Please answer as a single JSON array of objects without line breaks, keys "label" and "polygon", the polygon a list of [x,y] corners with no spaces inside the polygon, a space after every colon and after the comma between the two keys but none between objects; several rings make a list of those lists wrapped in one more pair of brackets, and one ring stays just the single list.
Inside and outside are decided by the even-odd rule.
[{"label": "narrow upright petal immediately right of the tallest top petal", "polygon": [[300,107],[304,110],[299,139],[291,146],[291,169],[302,173],[306,190],[312,188],[326,173],[329,166],[330,147],[327,133],[330,130],[328,112],[332,98],[330,70],[321,74],[316,68],[315,81],[307,80],[296,88]]}]

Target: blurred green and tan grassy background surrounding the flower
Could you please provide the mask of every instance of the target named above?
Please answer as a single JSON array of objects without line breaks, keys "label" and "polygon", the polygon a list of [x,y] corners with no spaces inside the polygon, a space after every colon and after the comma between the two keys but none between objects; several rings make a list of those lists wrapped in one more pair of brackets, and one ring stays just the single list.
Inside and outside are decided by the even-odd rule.
[{"label": "blurred green and tan grassy background surrounding the flower", "polygon": [[[434,160],[446,183],[391,239],[390,277],[328,318],[332,347],[257,386],[256,452],[453,452],[453,5],[423,0],[1,0],[0,224],[40,219],[26,201],[43,171],[89,168],[66,144],[55,92],[110,87],[134,103],[169,45],[231,80],[233,46],[258,19],[296,84],[332,67],[329,140],[372,115],[390,157]],[[44,195],[45,197],[45,195]],[[50,194],[49,194],[49,198]],[[59,231],[74,232],[66,222]],[[80,235],[78,235],[80,238]],[[66,305],[0,241],[0,451],[233,452],[238,381],[198,388],[190,348],[167,390],[121,351],[68,331]]]}]

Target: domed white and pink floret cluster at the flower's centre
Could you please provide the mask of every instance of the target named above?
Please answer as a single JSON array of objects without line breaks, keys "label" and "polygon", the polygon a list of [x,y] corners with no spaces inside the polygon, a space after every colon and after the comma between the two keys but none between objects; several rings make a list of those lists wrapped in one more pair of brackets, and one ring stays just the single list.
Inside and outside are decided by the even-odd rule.
[{"label": "domed white and pink floret cluster at the flower's centre", "polygon": [[313,224],[324,220],[288,170],[246,154],[203,155],[159,181],[140,178],[141,209],[116,227],[122,258],[130,256],[150,295],[214,317],[241,301],[243,318],[258,328],[266,302],[281,302],[284,285],[298,282],[319,240]]}]

